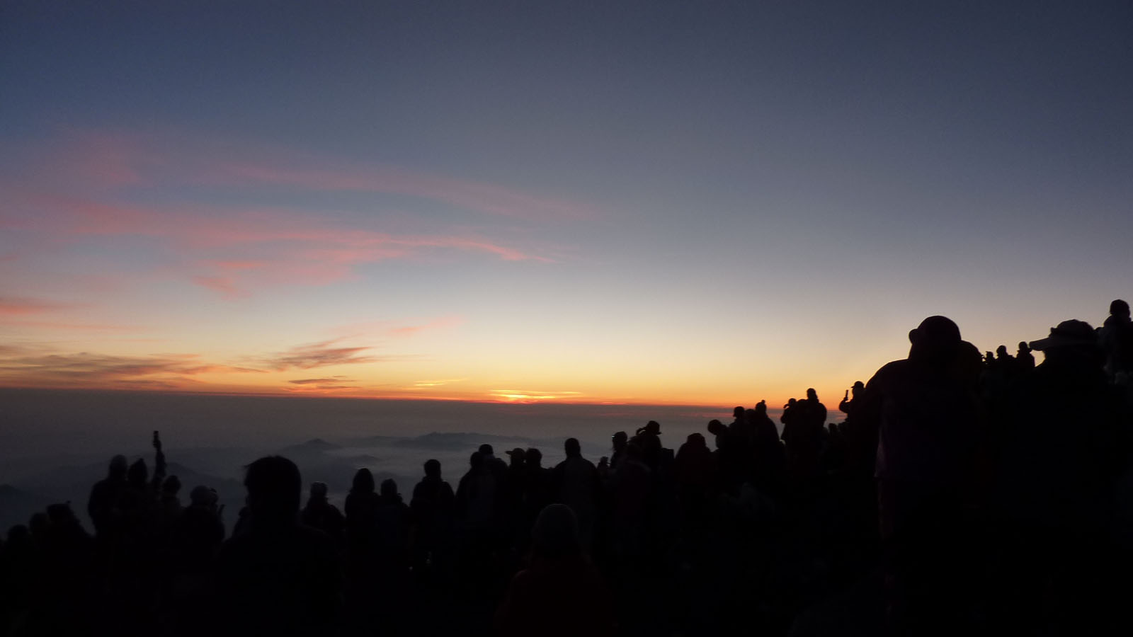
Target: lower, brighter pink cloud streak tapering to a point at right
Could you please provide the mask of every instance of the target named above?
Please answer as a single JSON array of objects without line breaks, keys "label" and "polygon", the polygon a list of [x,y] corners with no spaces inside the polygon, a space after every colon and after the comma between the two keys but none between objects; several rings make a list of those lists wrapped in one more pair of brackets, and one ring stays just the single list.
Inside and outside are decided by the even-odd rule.
[{"label": "lower, brighter pink cloud streak tapering to a point at right", "polygon": [[264,286],[326,284],[355,267],[436,250],[487,254],[504,261],[552,260],[479,236],[391,235],[337,226],[281,209],[140,207],[17,192],[0,226],[66,237],[142,237],[185,254],[187,278],[222,298]]}]

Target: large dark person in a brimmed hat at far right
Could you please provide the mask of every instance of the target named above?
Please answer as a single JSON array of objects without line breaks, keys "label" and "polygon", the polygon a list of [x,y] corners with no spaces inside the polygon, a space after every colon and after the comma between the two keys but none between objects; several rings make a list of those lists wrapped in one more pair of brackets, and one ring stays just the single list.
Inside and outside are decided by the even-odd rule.
[{"label": "large dark person in a brimmed hat at far right", "polygon": [[1130,462],[1127,407],[1089,323],[1063,321],[1030,347],[1045,360],[1012,388],[998,452],[993,510],[1004,530],[1004,579],[996,588],[1005,603],[997,628],[1105,634],[1124,621],[1113,601],[1124,575],[1111,520]]}]

